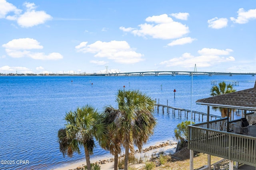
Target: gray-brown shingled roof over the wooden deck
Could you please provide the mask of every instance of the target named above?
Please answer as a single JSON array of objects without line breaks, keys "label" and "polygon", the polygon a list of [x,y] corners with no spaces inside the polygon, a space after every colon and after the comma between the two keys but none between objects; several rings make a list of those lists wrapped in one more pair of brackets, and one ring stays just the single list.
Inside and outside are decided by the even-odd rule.
[{"label": "gray-brown shingled roof over the wooden deck", "polygon": [[196,104],[256,110],[256,82],[254,84],[254,88],[199,99],[196,101]]}]

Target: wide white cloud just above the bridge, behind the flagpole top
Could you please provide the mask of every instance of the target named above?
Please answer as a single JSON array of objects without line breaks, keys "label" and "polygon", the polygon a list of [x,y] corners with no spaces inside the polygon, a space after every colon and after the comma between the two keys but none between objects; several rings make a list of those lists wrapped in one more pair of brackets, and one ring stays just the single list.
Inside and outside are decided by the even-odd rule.
[{"label": "wide white cloud just above the bridge, behind the flagpole top", "polygon": [[223,55],[229,55],[232,52],[231,49],[207,49],[198,50],[198,56],[193,56],[190,53],[184,53],[181,57],[176,57],[168,61],[162,61],[160,65],[166,67],[180,67],[180,68],[193,68],[194,64],[198,67],[209,67],[217,63],[225,63],[235,61],[232,56],[224,57]]}]

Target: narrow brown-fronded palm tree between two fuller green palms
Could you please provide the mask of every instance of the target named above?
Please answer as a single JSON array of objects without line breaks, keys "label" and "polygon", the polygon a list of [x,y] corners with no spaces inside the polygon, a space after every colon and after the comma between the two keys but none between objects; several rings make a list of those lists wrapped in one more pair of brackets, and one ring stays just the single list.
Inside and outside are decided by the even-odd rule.
[{"label": "narrow brown-fronded palm tree between two fuller green palms", "polygon": [[102,147],[106,150],[110,150],[110,153],[114,155],[114,170],[118,170],[118,154],[121,154],[122,145],[122,131],[120,126],[118,127],[118,116],[120,111],[114,109],[112,106],[105,107],[104,120],[106,124],[106,133],[108,136],[107,147]]}]

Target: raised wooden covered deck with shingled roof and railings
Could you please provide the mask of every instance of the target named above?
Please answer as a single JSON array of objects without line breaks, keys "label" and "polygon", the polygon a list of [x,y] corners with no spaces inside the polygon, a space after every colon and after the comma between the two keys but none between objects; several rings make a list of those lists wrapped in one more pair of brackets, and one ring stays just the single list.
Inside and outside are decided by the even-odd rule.
[{"label": "raised wooden covered deck with shingled roof and railings", "polygon": [[[197,104],[206,105],[208,114],[210,106],[244,110],[244,117],[250,125],[256,124],[256,84],[254,88],[198,100]],[[188,126],[188,149],[190,149],[190,169],[193,169],[193,152],[208,154],[227,159],[228,169],[241,165],[254,166],[256,169],[256,137],[247,133],[234,133],[232,123],[242,126],[241,119],[230,121],[228,117]],[[238,163],[239,162],[239,163]],[[242,167],[241,167],[242,168]]]}]

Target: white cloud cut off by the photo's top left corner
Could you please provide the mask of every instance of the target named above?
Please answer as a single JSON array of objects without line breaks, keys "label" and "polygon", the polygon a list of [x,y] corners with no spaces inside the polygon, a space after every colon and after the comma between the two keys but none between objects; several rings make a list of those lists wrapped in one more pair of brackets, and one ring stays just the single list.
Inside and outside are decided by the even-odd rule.
[{"label": "white cloud cut off by the photo's top left corner", "polygon": [[14,14],[18,15],[22,10],[19,10],[13,4],[6,2],[6,0],[0,0],[0,18],[5,18],[10,12],[14,12]]}]

